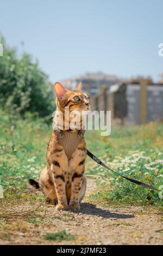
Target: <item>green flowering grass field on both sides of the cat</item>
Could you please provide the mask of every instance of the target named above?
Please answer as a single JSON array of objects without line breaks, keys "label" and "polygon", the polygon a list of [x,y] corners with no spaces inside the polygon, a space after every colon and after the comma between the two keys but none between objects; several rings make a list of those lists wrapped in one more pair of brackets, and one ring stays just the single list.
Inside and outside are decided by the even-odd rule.
[{"label": "green flowering grass field on both sides of the cat", "polygon": [[[21,120],[4,114],[0,109],[0,185],[4,195],[12,201],[40,201],[42,195],[21,193],[28,178],[38,180],[46,164],[47,141],[51,138],[52,124],[27,116]],[[14,140],[12,130],[14,128]],[[86,132],[87,148],[104,163],[120,174],[159,186],[163,184],[163,124],[149,123],[137,127],[112,127],[111,135],[102,137],[99,131]],[[13,150],[14,148],[14,150]],[[95,175],[98,192],[92,200],[104,204],[136,204],[160,206],[158,193],[137,187],[122,178],[86,160],[86,174]],[[0,202],[1,204],[2,201]]]}]

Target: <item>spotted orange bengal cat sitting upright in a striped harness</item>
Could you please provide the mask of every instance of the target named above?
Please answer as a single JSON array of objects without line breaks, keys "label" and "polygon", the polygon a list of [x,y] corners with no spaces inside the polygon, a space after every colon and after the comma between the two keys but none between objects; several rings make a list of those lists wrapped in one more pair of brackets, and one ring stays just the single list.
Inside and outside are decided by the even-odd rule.
[{"label": "spotted orange bengal cat sitting upright in a striped harness", "polygon": [[[66,90],[59,82],[54,85],[57,96],[57,113],[62,113],[64,124],[62,135],[58,137],[58,130],[53,129],[51,140],[47,148],[47,165],[41,171],[39,183],[30,179],[29,183],[35,188],[40,188],[45,197],[53,204],[57,204],[57,210],[79,210],[80,201],[86,190],[86,177],[84,176],[86,144],[84,136],[79,136],[82,130],[82,118],[79,130],[66,130],[65,124],[72,121],[71,112],[74,110],[87,111],[90,102],[82,92],[80,83],[76,90]],[[65,114],[65,106],[69,109],[69,115]],[[54,122],[58,123],[60,115],[56,114]]]}]

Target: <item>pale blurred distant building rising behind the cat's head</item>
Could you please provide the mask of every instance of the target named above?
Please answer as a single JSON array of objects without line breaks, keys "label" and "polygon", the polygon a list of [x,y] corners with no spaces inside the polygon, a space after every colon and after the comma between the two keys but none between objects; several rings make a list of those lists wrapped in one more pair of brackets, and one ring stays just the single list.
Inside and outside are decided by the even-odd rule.
[{"label": "pale blurred distant building rising behind the cat's head", "polygon": [[61,83],[66,88],[74,90],[79,82],[83,84],[83,91],[86,91],[90,96],[99,93],[99,88],[102,85],[107,86],[108,90],[111,85],[119,81],[116,75],[105,74],[103,72],[85,73],[81,76],[76,76],[72,79],[62,80]]}]

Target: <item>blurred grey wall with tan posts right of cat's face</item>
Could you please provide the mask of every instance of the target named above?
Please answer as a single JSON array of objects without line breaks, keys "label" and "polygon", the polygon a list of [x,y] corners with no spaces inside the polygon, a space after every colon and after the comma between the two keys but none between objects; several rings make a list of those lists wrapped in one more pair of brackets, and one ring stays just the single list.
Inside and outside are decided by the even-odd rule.
[{"label": "blurred grey wall with tan posts right of cat's face", "polygon": [[110,110],[112,118],[125,124],[143,124],[163,119],[163,85],[122,84],[101,86],[100,92],[91,97],[92,110]]}]

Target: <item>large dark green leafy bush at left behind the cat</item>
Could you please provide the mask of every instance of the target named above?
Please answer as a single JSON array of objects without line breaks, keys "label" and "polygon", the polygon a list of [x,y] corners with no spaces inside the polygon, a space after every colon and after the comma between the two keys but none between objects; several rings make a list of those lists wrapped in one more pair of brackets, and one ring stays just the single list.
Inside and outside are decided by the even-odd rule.
[{"label": "large dark green leafy bush at left behind the cat", "polygon": [[16,49],[7,46],[4,38],[3,57],[0,57],[0,104],[8,111],[22,116],[26,112],[41,117],[54,111],[54,94],[48,76],[34,62],[32,56],[23,53],[17,57]]}]

